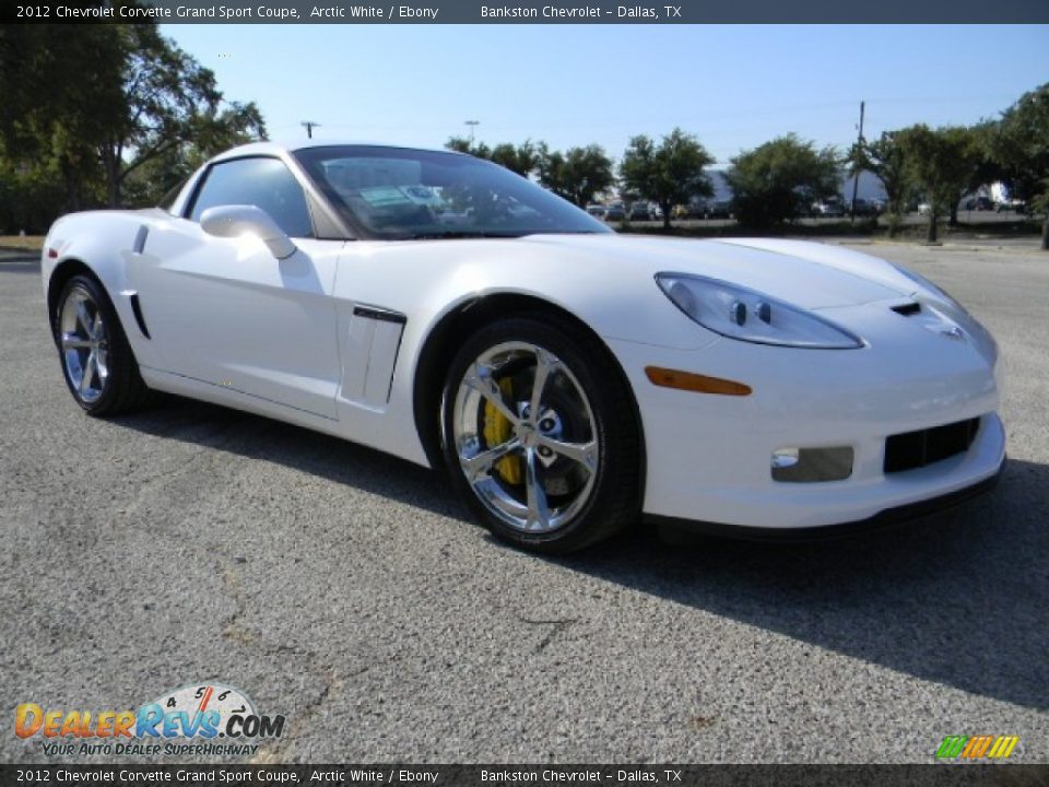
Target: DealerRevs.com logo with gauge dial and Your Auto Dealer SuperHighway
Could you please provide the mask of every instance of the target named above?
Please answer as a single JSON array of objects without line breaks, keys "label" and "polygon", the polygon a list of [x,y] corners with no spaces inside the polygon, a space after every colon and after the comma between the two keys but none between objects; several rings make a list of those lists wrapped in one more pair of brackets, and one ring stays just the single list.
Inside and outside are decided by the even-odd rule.
[{"label": "DealerRevs.com logo with gauge dial and Your Auto Dealer SuperHighway", "polygon": [[14,733],[38,738],[47,756],[254,754],[261,741],[280,738],[283,731],[283,716],[259,714],[244,692],[219,683],[165,692],[137,710],[44,708],[23,703],[14,712]]}]

